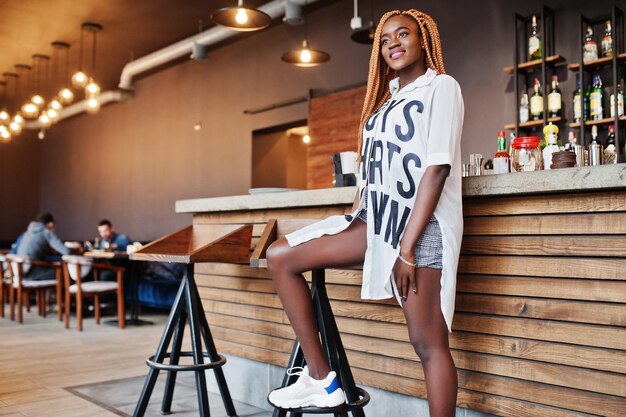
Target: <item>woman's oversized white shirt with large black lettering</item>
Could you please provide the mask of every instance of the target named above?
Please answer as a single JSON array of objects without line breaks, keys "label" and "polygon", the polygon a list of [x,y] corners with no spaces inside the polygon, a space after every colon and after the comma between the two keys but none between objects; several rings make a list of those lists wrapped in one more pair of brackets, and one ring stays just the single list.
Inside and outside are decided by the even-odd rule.
[{"label": "woman's oversized white shirt with large black lettering", "polygon": [[439,75],[430,68],[402,89],[399,85],[399,78],[390,82],[391,98],[363,127],[362,162],[357,181],[361,198],[357,210],[351,215],[331,216],[286,237],[289,245],[295,246],[322,235],[339,233],[354,221],[361,209],[367,208],[367,250],[361,297],[390,298],[395,288],[393,266],[422,175],[428,166],[450,165],[450,175],[434,216],[439,222],[443,242],[441,310],[451,331],[463,235],[460,140],[463,97],[454,78]]}]

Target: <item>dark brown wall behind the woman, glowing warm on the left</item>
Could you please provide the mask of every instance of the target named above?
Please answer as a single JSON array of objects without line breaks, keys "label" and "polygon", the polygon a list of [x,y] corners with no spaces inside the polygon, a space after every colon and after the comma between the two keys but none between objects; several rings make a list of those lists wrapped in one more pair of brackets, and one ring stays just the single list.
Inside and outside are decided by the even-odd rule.
[{"label": "dark brown wall behind the woman, glowing warm on the left", "polygon": [[[487,159],[496,132],[513,121],[517,108],[512,78],[502,71],[513,60],[513,13],[537,11],[541,2],[374,3],[377,17],[383,7],[413,6],[423,7],[438,22],[447,71],[459,81],[465,99],[464,159],[474,152]],[[608,13],[612,2],[546,4],[557,14],[557,53],[572,62],[578,56],[578,14]],[[251,132],[306,118],[307,105],[254,116],[244,115],[245,109],[305,96],[309,89],[365,83],[370,49],[349,39],[351,16],[349,0],[307,16],[310,43],[332,55],[323,66],[303,69],[282,63],[281,54],[301,42],[303,28],[278,25],[212,51],[208,61],[186,61],[145,77],[135,83],[130,101],[63,121],[41,143],[25,138],[27,145],[16,141],[3,146],[0,161],[35,160],[40,152],[41,162],[9,190],[9,200],[23,209],[6,215],[3,209],[0,239],[14,237],[38,205],[59,219],[63,238],[91,237],[96,222],[108,217],[132,238],[149,240],[190,222],[190,216],[174,213],[178,199],[247,193]],[[559,75],[569,116],[573,77],[566,71]],[[198,121],[203,128],[194,131]],[[23,189],[39,189],[38,204]]]}]

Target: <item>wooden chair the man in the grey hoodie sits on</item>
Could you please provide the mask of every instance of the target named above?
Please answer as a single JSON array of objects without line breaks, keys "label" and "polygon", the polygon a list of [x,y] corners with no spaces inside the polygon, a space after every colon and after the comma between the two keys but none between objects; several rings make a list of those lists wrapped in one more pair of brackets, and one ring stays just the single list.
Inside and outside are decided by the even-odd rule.
[{"label": "wooden chair the man in the grey hoodie sits on", "polygon": [[[9,268],[11,270],[11,279],[9,280],[9,283],[11,281],[13,283],[13,285],[9,284],[9,308],[11,310],[11,320],[15,320],[15,304],[17,300],[17,321],[18,323],[23,322],[23,305],[25,304],[25,299],[29,300],[31,292],[35,292],[39,315],[42,317],[46,317],[48,312],[48,291],[53,288],[56,289],[57,315],[59,320],[61,320],[61,263],[39,261],[35,259],[30,259],[26,256],[18,256],[12,254],[6,255],[6,260],[8,261]],[[26,268],[30,268],[31,266],[53,268],[55,271],[55,279],[37,281],[24,279]],[[28,301],[26,302],[26,304],[28,304]]]}]

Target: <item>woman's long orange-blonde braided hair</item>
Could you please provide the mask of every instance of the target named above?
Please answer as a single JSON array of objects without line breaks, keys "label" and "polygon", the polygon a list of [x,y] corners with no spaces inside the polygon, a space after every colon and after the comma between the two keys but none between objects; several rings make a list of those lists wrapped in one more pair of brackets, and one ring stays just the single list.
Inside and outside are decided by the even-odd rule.
[{"label": "woman's long orange-blonde braided hair", "polygon": [[389,99],[389,82],[398,76],[397,71],[389,68],[380,52],[380,37],[382,35],[383,26],[393,16],[408,16],[415,20],[419,28],[419,36],[422,47],[426,51],[426,66],[437,71],[439,74],[445,74],[446,69],[443,65],[443,55],[441,52],[441,38],[439,37],[439,29],[432,17],[426,13],[422,13],[415,9],[406,11],[392,10],[387,12],[380,18],[376,33],[374,34],[374,44],[372,45],[372,55],[370,57],[370,69],[367,77],[367,90],[365,92],[365,102],[361,112],[361,123],[359,124],[359,145],[358,155],[361,158],[361,147],[363,146],[363,125]]}]

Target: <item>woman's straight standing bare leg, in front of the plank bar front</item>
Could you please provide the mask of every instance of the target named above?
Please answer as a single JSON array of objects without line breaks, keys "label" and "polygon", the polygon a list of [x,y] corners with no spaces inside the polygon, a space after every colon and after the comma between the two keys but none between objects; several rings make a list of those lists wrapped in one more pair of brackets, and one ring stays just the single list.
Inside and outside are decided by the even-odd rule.
[{"label": "woman's straight standing bare leg, in front of the plank bar front", "polygon": [[417,294],[409,291],[404,315],[409,338],[422,361],[431,417],[454,417],[458,380],[441,313],[441,270],[415,270]]}]

